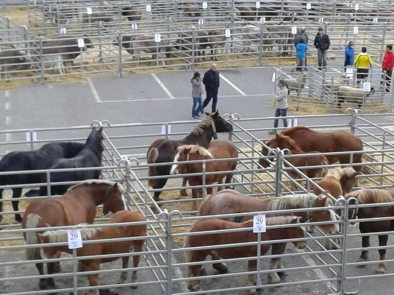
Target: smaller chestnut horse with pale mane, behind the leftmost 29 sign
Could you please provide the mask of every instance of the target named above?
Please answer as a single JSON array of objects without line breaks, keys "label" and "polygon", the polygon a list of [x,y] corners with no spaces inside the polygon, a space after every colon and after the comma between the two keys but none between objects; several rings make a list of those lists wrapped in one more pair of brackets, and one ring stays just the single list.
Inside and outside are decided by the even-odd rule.
[{"label": "smaller chestnut horse with pale mane, behind the leftmost 29 sign", "polygon": [[[110,223],[129,223],[129,222],[143,222],[144,217],[137,212],[130,211],[119,211],[114,214],[111,218]],[[100,240],[100,239],[117,239],[127,237],[142,237],[146,236],[146,225],[129,225],[129,226],[117,226],[117,227],[105,227],[105,228],[90,228],[81,229],[82,240]],[[38,234],[40,243],[55,243],[65,242],[68,240],[67,230],[57,231],[46,231],[42,234]],[[127,241],[113,241],[113,242],[98,242],[83,244],[82,248],[77,249],[77,256],[94,256],[94,255],[108,255],[108,254],[120,254],[128,253],[130,247],[133,245],[134,252],[142,252],[145,240],[127,240]],[[45,247],[40,249],[41,257],[51,259],[58,257],[59,252],[73,253],[68,246],[55,246]],[[120,257],[112,258],[94,258],[79,260],[81,270],[83,272],[99,271],[100,264],[105,262],[111,262],[118,260]],[[129,256],[122,257],[122,268],[128,268]],[[133,256],[133,267],[137,267],[140,262],[140,255]],[[122,272],[118,284],[123,284],[127,279],[128,271]],[[89,285],[98,286],[99,279],[98,274],[87,275],[89,279]],[[137,282],[137,271],[133,271],[132,282]],[[132,286],[133,289],[137,289],[137,286]],[[89,295],[99,295],[99,290],[91,290]]]}]

